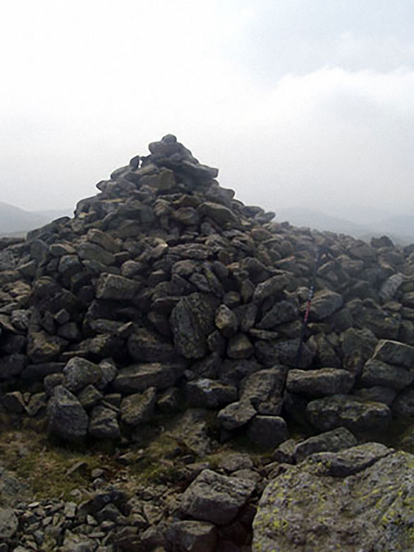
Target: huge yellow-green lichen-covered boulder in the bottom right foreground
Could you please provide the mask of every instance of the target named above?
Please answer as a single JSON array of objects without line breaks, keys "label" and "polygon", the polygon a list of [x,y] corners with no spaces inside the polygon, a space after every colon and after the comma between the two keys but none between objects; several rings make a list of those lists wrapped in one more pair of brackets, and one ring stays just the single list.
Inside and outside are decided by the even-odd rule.
[{"label": "huge yellow-green lichen-covered boulder in the bottom right foreground", "polygon": [[413,476],[413,455],[379,443],[312,455],[265,489],[252,550],[412,551]]}]

